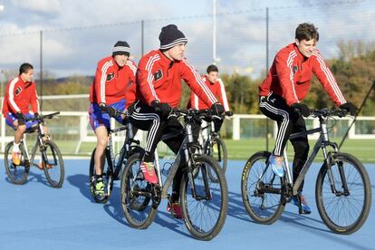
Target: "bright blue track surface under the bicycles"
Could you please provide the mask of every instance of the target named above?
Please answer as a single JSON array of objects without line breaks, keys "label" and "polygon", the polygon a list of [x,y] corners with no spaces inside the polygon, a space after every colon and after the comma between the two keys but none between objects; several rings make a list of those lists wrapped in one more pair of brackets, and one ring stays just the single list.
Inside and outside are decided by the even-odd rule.
[{"label": "bright blue track surface under the bicycles", "polygon": [[[0,159],[0,249],[375,249],[375,216],[351,236],[333,234],[320,218],[314,201],[319,166],[305,181],[304,195],[312,207],[309,216],[286,206],[274,225],[253,223],[242,204],[240,179],[245,161],[230,161],[226,178],[229,208],[226,224],[215,239],[192,238],[184,223],[171,218],[166,201],[154,223],[145,230],[127,225],[120,207],[120,182],[108,204],[96,204],[88,186],[88,159],[66,159],[63,187],[49,187],[43,171],[33,168],[28,181],[8,181]],[[365,165],[375,200],[375,165]]]}]

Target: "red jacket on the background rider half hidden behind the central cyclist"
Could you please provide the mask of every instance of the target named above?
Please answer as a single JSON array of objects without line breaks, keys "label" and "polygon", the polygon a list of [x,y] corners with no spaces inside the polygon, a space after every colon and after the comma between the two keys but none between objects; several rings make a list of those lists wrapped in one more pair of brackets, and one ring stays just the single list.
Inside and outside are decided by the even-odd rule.
[{"label": "red jacket on the background rider half hidden behind the central cyclist", "polygon": [[[216,82],[209,82],[206,75],[202,75],[203,81],[206,83],[208,89],[215,95],[216,99],[224,106],[226,111],[229,111],[229,104],[226,98],[226,87],[221,79],[217,79]],[[202,101],[194,92],[190,93],[190,101],[187,104],[187,108],[193,108],[197,110],[205,110],[210,107]]]}]

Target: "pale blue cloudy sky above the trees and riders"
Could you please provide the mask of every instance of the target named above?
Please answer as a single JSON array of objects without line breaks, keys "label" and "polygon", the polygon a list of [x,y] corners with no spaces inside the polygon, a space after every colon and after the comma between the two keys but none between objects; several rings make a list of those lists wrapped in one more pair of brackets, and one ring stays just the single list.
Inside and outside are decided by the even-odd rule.
[{"label": "pale blue cloudy sky above the trees and riders", "polygon": [[[17,69],[25,61],[37,68],[39,30],[45,31],[43,68],[56,76],[93,74],[97,61],[111,53],[111,46],[118,40],[130,43],[138,62],[139,20],[146,20],[146,53],[158,48],[160,28],[174,23],[187,35],[187,58],[197,70],[202,72],[212,63],[213,0],[0,0],[0,5],[4,5],[0,12],[0,69]],[[277,50],[293,42],[295,27],[303,22],[319,27],[318,47],[326,58],[338,54],[336,44],[340,40],[375,41],[373,0],[216,0],[216,54],[222,72],[256,77],[264,71],[267,6],[270,7],[270,63]],[[101,27],[102,24],[119,25]],[[100,27],[56,31],[96,25]]]}]

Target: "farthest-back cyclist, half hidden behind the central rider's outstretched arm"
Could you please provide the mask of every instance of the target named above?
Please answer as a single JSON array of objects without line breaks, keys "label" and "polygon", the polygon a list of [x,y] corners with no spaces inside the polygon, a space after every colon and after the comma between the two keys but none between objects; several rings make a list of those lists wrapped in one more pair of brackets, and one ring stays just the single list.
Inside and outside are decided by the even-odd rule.
[{"label": "farthest-back cyclist, half hidden behind the central rider's outstretched arm", "polygon": [[[212,93],[216,96],[216,98],[220,101],[220,103],[224,106],[224,110],[227,116],[232,116],[232,112],[229,111],[229,104],[226,98],[226,87],[224,86],[224,82],[218,78],[218,68],[216,65],[209,65],[207,67],[207,74],[202,76],[203,81],[206,83],[207,87],[212,91]],[[190,92],[190,100],[187,103],[187,109],[193,108],[196,110],[206,110],[209,109],[207,104],[200,99],[196,93],[193,91]],[[221,119],[214,119],[215,128],[214,131],[218,132],[223,125],[224,120]],[[206,127],[207,122],[204,121],[202,123],[202,127]],[[208,133],[208,131],[207,131]],[[204,134],[204,136],[208,137],[208,134]]]}]

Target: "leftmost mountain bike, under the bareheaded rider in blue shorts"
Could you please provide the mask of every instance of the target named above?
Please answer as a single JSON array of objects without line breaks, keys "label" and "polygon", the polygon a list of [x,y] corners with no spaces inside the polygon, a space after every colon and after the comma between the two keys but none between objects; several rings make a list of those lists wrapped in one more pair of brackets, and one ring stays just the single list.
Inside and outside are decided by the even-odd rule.
[{"label": "leftmost mountain bike, under the bareheaded rider in blue shorts", "polygon": [[[12,161],[12,152],[14,142],[9,142],[5,147],[5,170],[11,182],[17,185],[22,185],[27,179],[30,167],[43,168],[45,178],[52,187],[62,187],[64,178],[63,156],[57,145],[49,139],[48,135],[44,134],[43,124],[44,120],[52,119],[60,112],[38,116],[35,118],[25,119],[25,121],[37,120],[37,126],[26,130],[26,133],[33,133],[37,131],[37,137],[32,149],[31,155],[27,149],[26,139],[22,139],[19,149],[21,150],[21,163],[14,165]],[[39,149],[41,153],[41,160],[39,163],[34,161],[36,153]]]}]

